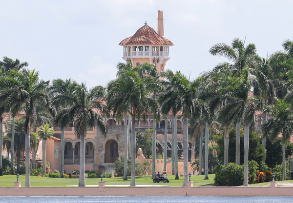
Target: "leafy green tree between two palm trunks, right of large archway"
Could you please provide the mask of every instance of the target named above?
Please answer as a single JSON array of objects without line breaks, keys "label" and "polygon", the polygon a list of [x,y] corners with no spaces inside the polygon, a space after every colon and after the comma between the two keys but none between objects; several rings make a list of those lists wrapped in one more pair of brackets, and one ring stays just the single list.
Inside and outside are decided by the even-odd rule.
[{"label": "leafy green tree between two palm trunks, right of large archway", "polygon": [[146,129],[144,133],[136,133],[136,152],[139,148],[142,148],[146,159],[150,159],[152,154],[152,129]]}]

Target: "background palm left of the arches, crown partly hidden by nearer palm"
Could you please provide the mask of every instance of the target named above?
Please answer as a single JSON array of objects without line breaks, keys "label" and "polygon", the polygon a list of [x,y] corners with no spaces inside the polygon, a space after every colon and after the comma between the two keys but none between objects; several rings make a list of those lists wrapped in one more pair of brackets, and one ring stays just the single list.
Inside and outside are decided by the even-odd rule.
[{"label": "background palm left of the arches, crown partly hidden by nearer palm", "polygon": [[[62,79],[53,80],[52,85],[49,87],[50,96],[52,97],[52,103],[56,107],[57,111],[60,111],[62,108],[67,107],[71,101],[62,100],[64,95],[71,95],[74,86],[76,86],[76,81],[71,81],[71,79]],[[60,150],[60,175],[61,178],[64,176],[64,127],[69,123],[57,123],[61,125],[61,150]]]}]

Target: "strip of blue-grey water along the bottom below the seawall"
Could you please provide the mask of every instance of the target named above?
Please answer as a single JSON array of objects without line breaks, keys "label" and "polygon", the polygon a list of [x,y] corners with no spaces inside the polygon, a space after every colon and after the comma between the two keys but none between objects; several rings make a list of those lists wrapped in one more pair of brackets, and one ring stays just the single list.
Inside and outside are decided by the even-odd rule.
[{"label": "strip of blue-grey water along the bottom below the seawall", "polygon": [[292,203],[293,196],[0,196],[0,203]]}]

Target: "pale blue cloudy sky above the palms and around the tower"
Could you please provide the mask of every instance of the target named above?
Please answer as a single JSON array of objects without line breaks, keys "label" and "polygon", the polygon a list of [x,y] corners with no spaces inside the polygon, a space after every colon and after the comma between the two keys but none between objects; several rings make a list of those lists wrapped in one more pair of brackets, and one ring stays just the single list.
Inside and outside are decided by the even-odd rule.
[{"label": "pale blue cloudy sky above the palms and around the tower", "polygon": [[225,58],[216,43],[254,43],[266,58],[293,40],[292,0],[0,0],[0,61],[29,63],[40,78],[72,78],[106,86],[122,59],[118,45],[145,21],[157,31],[163,10],[169,49],[166,69],[195,79]]}]

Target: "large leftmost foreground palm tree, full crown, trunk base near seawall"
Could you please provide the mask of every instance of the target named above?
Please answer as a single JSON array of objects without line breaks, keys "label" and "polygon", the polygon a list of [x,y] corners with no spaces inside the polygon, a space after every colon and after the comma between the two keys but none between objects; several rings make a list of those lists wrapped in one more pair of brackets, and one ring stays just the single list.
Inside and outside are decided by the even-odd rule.
[{"label": "large leftmost foreground palm tree, full crown, trunk base near seawall", "polygon": [[21,69],[12,70],[10,77],[2,77],[0,85],[6,86],[7,90],[1,95],[0,100],[7,103],[14,103],[18,106],[24,105],[25,111],[25,186],[30,186],[29,163],[30,163],[30,124],[36,119],[36,104],[50,109],[52,114],[55,109],[52,108],[46,88],[49,81],[40,81],[39,72],[35,70]]}]

